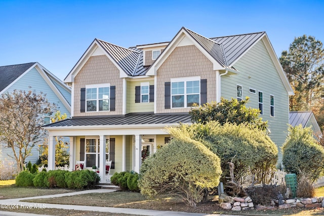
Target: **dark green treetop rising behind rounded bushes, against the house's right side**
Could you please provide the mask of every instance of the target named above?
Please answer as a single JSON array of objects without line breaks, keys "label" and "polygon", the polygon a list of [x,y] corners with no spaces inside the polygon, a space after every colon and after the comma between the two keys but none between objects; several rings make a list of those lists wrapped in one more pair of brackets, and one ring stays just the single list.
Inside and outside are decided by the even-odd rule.
[{"label": "dark green treetop rising behind rounded bushes, against the house's right side", "polygon": [[262,121],[259,117],[260,110],[247,108],[249,97],[246,100],[236,99],[226,100],[221,98],[220,103],[206,103],[200,107],[194,107],[189,111],[192,122],[206,124],[208,121],[218,121],[221,125],[226,122],[248,123],[252,128],[259,128],[262,131],[267,129],[267,121]]}]

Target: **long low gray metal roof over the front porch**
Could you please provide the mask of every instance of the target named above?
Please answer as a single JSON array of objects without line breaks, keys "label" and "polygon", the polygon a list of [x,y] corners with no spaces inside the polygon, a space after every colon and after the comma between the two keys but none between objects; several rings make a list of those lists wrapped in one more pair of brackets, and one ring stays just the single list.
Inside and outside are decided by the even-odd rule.
[{"label": "long low gray metal roof over the front porch", "polygon": [[132,113],[127,115],[111,115],[102,117],[75,117],[64,119],[45,125],[45,127],[58,126],[94,126],[94,125],[143,125],[143,124],[174,124],[190,123],[191,116],[188,113],[177,114],[152,114],[152,113]]}]

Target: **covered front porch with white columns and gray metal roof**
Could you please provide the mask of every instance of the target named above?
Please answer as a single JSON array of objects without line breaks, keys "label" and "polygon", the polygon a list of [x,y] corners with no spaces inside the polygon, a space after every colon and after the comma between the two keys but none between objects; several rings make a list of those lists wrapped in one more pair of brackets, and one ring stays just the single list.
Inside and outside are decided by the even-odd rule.
[{"label": "covered front porch with white columns and gray metal roof", "polygon": [[[133,118],[130,119],[130,116]],[[151,123],[145,123],[143,117],[147,117],[146,121]],[[139,172],[142,161],[171,139],[166,126],[191,122],[188,114],[149,114],[136,118],[129,115],[119,117],[122,121],[119,124],[116,124],[116,117],[112,118],[72,118],[44,127],[49,131],[48,169],[55,169],[55,137],[69,137],[69,170],[75,170],[77,161],[84,163],[84,169],[92,169],[95,165],[101,183],[106,183],[114,172]],[[158,119],[164,122],[158,123]],[[114,124],[111,120],[115,120]],[[105,121],[110,124],[105,124]],[[97,122],[101,122],[101,125]],[[106,161],[111,161],[109,175],[106,175]]]}]

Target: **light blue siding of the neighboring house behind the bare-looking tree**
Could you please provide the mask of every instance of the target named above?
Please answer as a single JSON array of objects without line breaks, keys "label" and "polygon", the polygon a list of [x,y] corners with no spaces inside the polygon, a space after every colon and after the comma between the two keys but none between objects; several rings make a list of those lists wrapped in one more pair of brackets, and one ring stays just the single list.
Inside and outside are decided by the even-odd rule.
[{"label": "light blue siding of the neighboring house behind the bare-looking tree", "polygon": [[[8,90],[7,92],[11,93],[15,89],[17,90],[24,90],[29,91],[28,87],[31,87],[32,91],[36,91],[36,93],[43,92],[46,93],[46,98],[51,102],[57,104],[57,109],[61,111],[61,113],[66,113],[67,116],[70,116],[70,111],[63,105],[57,95],[52,91],[48,83],[44,80],[41,74],[35,68],[32,68],[28,73],[26,73],[23,77],[17,80]],[[70,96],[71,98],[71,96]],[[70,101],[69,101],[70,103]],[[2,148],[0,152],[0,160],[8,161],[8,160],[15,160],[8,156],[13,155],[11,148]],[[35,163],[38,159],[38,146],[35,146],[32,151],[31,155],[28,156],[25,162],[31,161],[31,163]]]}]

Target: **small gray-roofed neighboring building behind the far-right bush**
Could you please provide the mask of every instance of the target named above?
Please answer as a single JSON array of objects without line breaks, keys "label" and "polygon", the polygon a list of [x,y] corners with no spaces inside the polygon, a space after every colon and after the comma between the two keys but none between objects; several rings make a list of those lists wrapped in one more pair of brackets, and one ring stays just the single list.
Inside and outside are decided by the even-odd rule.
[{"label": "small gray-roofed neighboring building behind the far-right bush", "polygon": [[293,127],[302,125],[302,127],[310,127],[313,130],[314,137],[322,137],[322,132],[315,119],[314,113],[312,111],[295,111],[289,113],[289,124]]}]

